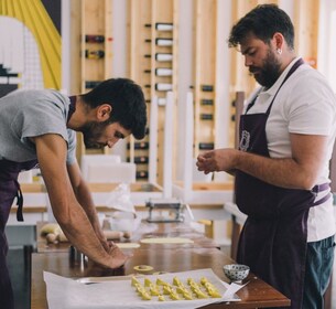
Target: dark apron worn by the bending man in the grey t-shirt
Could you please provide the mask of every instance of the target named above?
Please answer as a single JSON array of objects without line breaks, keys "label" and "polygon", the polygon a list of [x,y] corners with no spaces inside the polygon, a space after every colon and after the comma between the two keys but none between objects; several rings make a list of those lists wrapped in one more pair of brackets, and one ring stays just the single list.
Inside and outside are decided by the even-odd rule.
[{"label": "dark apron worn by the bending man in the grey t-shirt", "polygon": [[[76,97],[69,97],[71,105],[67,121],[76,110]],[[31,170],[37,167],[37,160],[26,162],[13,162],[10,160],[0,160],[0,302],[1,309],[13,309],[13,292],[11,280],[6,263],[8,253],[8,243],[4,234],[4,227],[9,219],[10,210],[17,198],[18,221],[23,221],[22,206],[23,196],[18,182],[21,171]]]}]

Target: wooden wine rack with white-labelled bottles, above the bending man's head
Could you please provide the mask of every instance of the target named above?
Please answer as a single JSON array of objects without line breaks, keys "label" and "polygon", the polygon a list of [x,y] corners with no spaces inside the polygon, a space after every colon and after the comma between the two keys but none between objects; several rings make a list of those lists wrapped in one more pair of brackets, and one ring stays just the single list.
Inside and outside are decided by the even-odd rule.
[{"label": "wooden wine rack with white-labelled bottles, above the bending man's head", "polygon": [[[163,180],[163,132],[165,107],[161,104],[166,97],[166,85],[171,85],[174,96],[176,93],[176,49],[177,49],[177,1],[176,0],[129,0],[129,24],[130,24],[130,78],[134,79],[143,88],[148,102],[148,111],[154,96],[158,97],[158,164],[156,182],[162,184]],[[160,30],[156,25],[172,25],[172,29]],[[169,42],[172,44],[167,44]],[[161,45],[160,42],[163,42]],[[171,54],[171,61],[158,61],[158,54]],[[158,68],[164,68],[167,75],[158,75]],[[161,89],[161,87],[163,89]],[[174,97],[175,100],[175,97]],[[174,110],[175,113],[175,110]],[[148,115],[150,118],[150,115]],[[176,117],[174,118],[176,119]],[[174,126],[175,128],[176,126]],[[175,136],[175,135],[174,135]],[[144,141],[149,141],[145,137]],[[128,157],[134,161],[136,157],[145,156],[149,158],[149,150],[139,150],[134,147],[134,140],[129,140]],[[151,163],[151,162],[150,162]],[[153,163],[153,162],[152,162]],[[137,164],[137,171],[143,173],[148,180],[149,164]]]}]

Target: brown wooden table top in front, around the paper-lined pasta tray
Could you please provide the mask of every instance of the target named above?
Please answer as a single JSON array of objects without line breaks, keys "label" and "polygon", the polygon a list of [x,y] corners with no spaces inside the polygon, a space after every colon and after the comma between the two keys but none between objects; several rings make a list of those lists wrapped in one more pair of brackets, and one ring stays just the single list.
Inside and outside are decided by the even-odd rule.
[{"label": "brown wooden table top in front, around the paper-lined pasta tray", "polygon": [[[192,269],[212,268],[223,280],[227,280],[223,274],[223,265],[232,263],[223,252],[216,248],[181,248],[175,251],[136,249],[132,258],[122,269],[106,270],[97,266],[88,266],[72,262],[67,253],[50,253],[32,255],[32,286],[31,308],[44,309],[46,305],[45,284],[43,270],[47,270],[65,277],[100,277],[121,276],[134,274],[136,265],[151,265],[153,271],[185,271]],[[264,308],[285,307],[290,301],[271,286],[250,275],[250,283],[238,291],[242,299],[239,302],[225,302],[212,305],[206,308]]]}]

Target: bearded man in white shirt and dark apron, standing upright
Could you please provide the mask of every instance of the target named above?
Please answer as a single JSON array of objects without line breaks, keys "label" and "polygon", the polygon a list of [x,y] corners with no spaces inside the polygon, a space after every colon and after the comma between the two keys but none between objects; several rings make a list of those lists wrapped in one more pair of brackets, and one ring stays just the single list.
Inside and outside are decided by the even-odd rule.
[{"label": "bearded man in white shirt and dark apron, standing upright", "polygon": [[198,157],[205,173],[235,173],[236,203],[248,215],[237,260],[291,299],[323,308],[334,258],[329,160],[336,98],[294,52],[294,29],[275,4],[258,6],[229,36],[261,87],[240,118],[239,149]]}]

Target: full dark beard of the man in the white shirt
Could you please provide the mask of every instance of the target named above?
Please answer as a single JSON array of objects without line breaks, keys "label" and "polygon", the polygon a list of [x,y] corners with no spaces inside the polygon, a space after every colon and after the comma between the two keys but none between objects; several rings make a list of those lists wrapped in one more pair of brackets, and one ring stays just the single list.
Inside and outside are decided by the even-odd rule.
[{"label": "full dark beard of the man in the white shirt", "polygon": [[281,64],[275,57],[275,54],[269,50],[267,57],[263,61],[262,67],[250,66],[250,73],[258,72],[254,76],[256,81],[265,88],[270,88],[280,76]]}]

